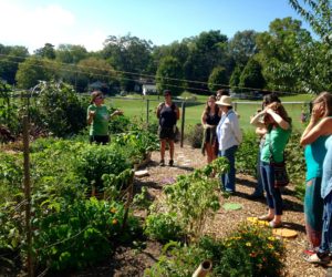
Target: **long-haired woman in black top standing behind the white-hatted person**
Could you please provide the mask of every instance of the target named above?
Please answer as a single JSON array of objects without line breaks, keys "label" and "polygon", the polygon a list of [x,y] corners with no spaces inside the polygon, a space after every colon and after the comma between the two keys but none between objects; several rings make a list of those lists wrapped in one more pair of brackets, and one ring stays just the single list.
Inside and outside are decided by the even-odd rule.
[{"label": "long-haired woman in black top standing behind the white-hatted person", "polygon": [[[203,135],[203,153],[207,155],[207,163],[212,162],[216,157],[218,152],[216,147],[218,146],[217,142],[217,125],[220,121],[221,116],[221,109],[216,105],[216,96],[209,96],[205,110],[201,114],[201,124],[204,127],[204,135]],[[218,150],[218,147],[217,147]]]}]

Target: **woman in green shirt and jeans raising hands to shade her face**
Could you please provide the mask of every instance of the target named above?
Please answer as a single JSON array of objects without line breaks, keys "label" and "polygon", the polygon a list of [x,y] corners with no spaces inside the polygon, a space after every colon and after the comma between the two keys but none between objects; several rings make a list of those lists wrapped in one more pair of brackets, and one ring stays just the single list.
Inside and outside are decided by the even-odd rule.
[{"label": "woman in green shirt and jeans raising hands to shade her face", "polygon": [[[263,116],[263,123],[259,120]],[[283,162],[283,152],[291,134],[291,119],[281,103],[273,102],[256,114],[250,124],[266,127],[266,142],[261,150],[261,178],[267,193],[268,214],[258,217],[269,222],[270,227],[281,227],[282,197],[280,188],[274,185],[274,165]]]}]

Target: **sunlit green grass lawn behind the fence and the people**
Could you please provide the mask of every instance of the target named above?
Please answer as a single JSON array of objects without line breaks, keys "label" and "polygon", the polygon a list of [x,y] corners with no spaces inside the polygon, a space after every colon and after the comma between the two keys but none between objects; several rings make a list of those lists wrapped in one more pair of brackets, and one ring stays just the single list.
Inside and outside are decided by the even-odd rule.
[{"label": "sunlit green grass lawn behind the fence and the people", "polygon": [[[188,129],[191,125],[200,123],[200,116],[205,107],[205,101],[207,96],[205,95],[196,95],[196,102],[186,103],[186,113],[185,113],[185,127]],[[148,101],[147,101],[148,100]],[[128,117],[137,117],[146,121],[147,116],[147,102],[148,102],[148,120],[149,122],[156,121],[155,111],[157,105],[163,102],[164,98],[156,95],[149,95],[147,98],[143,98],[139,94],[126,96],[126,98],[107,98],[106,105],[117,107],[124,111],[124,114]],[[303,130],[303,124],[300,121],[302,103],[288,103],[288,102],[309,102],[312,100],[312,95],[310,94],[299,94],[294,96],[283,96],[281,101],[283,102],[286,110],[289,115],[292,117],[293,127],[298,130]],[[250,116],[256,113],[258,109],[261,107],[261,101],[237,101],[236,111],[240,115],[240,126],[247,130],[253,130],[250,126],[249,121]],[[177,102],[178,106],[181,106],[181,101]],[[179,123],[178,123],[179,125]]]}]

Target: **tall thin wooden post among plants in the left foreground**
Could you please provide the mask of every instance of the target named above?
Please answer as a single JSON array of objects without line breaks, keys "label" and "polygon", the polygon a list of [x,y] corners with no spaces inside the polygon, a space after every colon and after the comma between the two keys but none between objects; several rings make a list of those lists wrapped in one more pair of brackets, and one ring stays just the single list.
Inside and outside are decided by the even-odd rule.
[{"label": "tall thin wooden post among plants in the left foreground", "polygon": [[30,187],[30,151],[29,151],[29,119],[23,116],[23,156],[24,156],[24,196],[25,196],[25,233],[28,245],[28,276],[33,276],[32,230],[31,230],[31,187]]}]

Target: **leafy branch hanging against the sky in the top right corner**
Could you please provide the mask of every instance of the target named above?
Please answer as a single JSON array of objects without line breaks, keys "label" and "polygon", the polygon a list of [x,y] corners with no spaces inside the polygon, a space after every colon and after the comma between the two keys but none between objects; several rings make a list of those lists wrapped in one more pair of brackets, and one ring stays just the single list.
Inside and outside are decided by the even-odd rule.
[{"label": "leafy branch hanging against the sky in the top right corner", "polygon": [[[331,0],[289,0],[293,9],[309,22],[322,41],[332,45],[332,2]],[[304,6],[307,4],[308,8]]]}]

